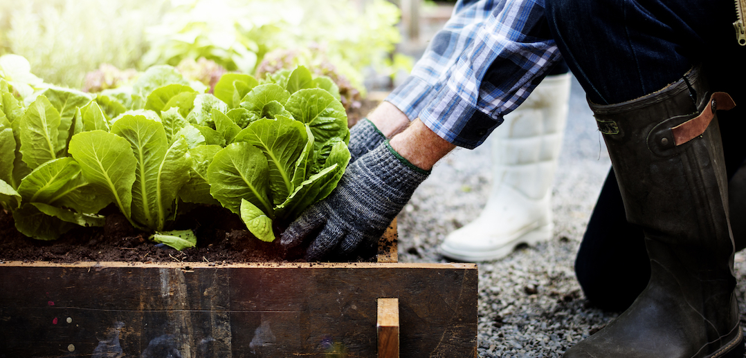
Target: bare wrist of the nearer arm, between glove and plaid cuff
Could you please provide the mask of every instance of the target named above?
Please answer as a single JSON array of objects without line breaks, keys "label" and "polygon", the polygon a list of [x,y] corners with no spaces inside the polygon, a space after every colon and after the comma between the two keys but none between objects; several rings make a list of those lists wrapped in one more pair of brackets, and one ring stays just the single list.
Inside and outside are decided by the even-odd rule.
[{"label": "bare wrist of the nearer arm, between glove and plaid cuff", "polygon": [[418,118],[404,132],[391,139],[391,147],[410,163],[430,170],[456,146],[440,138]]}]

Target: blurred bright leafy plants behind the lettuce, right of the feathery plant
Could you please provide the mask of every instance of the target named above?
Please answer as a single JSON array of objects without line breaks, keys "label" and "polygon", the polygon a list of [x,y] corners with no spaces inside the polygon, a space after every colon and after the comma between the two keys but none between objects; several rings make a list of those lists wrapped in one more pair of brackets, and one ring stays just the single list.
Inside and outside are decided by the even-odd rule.
[{"label": "blurred bright leafy plants behind the lettuce, right of the feathery plant", "polygon": [[142,65],[178,65],[184,59],[204,57],[228,71],[256,73],[270,51],[304,49],[304,56],[281,68],[316,68],[327,62],[333,64],[337,75],[325,75],[344,77],[363,91],[365,68],[395,74],[393,66],[411,62],[390,58],[401,40],[396,28],[398,7],[385,0],[366,1],[360,5],[363,8],[356,4],[326,0],[181,1],[166,13],[163,22],[148,28],[151,48],[142,57]]}]

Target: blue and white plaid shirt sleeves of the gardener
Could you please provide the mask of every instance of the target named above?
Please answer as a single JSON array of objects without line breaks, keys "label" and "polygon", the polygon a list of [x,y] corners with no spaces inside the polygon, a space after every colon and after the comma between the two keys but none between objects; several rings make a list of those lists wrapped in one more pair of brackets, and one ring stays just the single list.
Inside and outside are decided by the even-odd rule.
[{"label": "blue and white plaid shirt sleeves of the gardener", "polygon": [[410,77],[386,100],[445,140],[473,149],[558,60],[544,0],[458,1]]}]

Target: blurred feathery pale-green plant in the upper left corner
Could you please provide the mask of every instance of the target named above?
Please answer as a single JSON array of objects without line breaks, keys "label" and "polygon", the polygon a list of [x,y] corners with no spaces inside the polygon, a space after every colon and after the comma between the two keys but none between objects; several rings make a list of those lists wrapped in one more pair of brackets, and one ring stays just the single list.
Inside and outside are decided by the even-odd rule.
[{"label": "blurred feathery pale-green plant in the upper left corner", "polygon": [[0,0],[0,50],[27,58],[47,83],[80,88],[102,63],[137,65],[145,28],[168,7],[166,0]]}]

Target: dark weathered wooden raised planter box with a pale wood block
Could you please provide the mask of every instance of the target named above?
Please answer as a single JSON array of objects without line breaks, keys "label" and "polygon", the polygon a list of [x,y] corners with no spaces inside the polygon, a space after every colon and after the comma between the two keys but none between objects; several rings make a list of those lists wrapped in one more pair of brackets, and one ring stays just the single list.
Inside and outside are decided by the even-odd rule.
[{"label": "dark weathered wooden raised planter box with a pale wood block", "polygon": [[380,262],[386,240],[378,263],[0,263],[0,357],[477,357],[477,266]]}]

